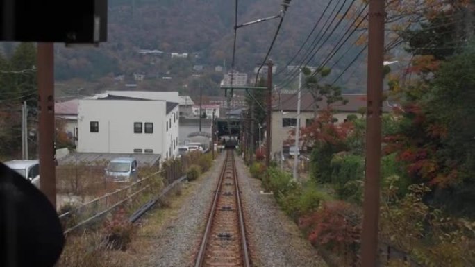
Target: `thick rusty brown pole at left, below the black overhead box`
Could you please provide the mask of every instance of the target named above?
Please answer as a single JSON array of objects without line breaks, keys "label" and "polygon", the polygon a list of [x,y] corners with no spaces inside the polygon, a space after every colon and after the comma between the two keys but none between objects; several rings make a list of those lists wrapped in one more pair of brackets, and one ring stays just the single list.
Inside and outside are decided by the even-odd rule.
[{"label": "thick rusty brown pole at left, below the black overhead box", "polygon": [[38,43],[40,190],[56,208],[53,43]]}]

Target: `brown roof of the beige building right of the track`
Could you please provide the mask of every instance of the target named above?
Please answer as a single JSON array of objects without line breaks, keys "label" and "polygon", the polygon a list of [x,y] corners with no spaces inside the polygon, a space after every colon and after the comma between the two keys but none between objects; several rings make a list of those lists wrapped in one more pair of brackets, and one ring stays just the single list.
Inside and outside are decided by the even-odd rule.
[{"label": "brown roof of the beige building right of the track", "polygon": [[[333,110],[338,110],[340,112],[358,112],[360,108],[366,107],[366,94],[342,94],[343,98],[348,101],[346,105],[343,105],[341,102],[333,103],[331,107]],[[302,94],[301,95],[301,104],[300,110],[302,112],[311,112],[313,111],[313,96],[311,94]],[[319,110],[326,107],[326,100],[323,99],[317,103]],[[297,111],[297,94],[281,94],[274,98],[274,103],[272,105],[274,110],[283,110],[283,111]],[[387,102],[383,102],[383,111],[388,112],[391,109]]]}]

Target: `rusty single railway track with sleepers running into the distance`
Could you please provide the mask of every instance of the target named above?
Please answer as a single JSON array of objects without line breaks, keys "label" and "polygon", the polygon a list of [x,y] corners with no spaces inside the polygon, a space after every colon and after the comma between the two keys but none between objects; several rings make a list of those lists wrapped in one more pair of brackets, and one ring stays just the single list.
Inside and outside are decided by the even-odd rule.
[{"label": "rusty single railway track with sleepers running into the distance", "polygon": [[226,151],[226,159],[194,266],[251,266],[238,174],[231,149]]}]

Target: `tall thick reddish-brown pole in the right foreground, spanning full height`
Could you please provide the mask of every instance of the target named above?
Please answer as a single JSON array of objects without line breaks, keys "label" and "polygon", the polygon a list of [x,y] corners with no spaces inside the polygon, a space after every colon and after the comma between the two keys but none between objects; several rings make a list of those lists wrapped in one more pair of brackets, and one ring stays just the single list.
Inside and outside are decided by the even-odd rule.
[{"label": "tall thick reddish-brown pole in the right foreground, spanning full height", "polygon": [[365,196],[361,266],[377,266],[385,1],[369,1]]}]

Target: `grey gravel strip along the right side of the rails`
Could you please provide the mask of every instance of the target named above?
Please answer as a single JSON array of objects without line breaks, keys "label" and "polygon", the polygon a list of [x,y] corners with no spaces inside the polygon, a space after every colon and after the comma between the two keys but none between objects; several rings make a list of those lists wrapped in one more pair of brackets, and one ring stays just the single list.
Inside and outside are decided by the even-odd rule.
[{"label": "grey gravel strip along the right side of the rails", "polygon": [[317,250],[278,207],[274,196],[260,193],[260,180],[250,178],[242,158],[235,159],[253,266],[326,267]]}]

